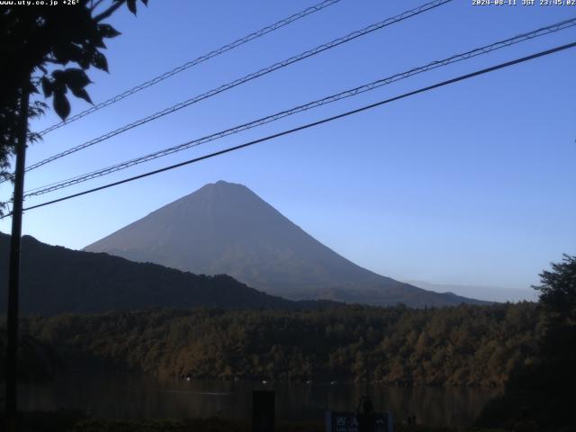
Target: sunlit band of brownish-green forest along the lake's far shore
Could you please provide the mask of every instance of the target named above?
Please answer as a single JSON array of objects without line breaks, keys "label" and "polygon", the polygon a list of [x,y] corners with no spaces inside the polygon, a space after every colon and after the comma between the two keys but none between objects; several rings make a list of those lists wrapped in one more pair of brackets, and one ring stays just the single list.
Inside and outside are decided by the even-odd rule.
[{"label": "sunlit band of brownish-green forest along the lake's far shore", "polygon": [[69,367],[232,380],[500,386],[534,363],[536,303],[111,312],[23,320]]}]

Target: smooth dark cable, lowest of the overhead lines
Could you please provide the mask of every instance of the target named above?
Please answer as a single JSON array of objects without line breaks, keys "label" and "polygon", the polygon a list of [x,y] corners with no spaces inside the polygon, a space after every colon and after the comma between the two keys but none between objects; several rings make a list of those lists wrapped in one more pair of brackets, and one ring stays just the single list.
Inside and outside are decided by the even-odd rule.
[{"label": "smooth dark cable, lowest of the overhead lines", "polygon": [[[97,192],[97,191],[102,191],[103,189],[108,189],[108,188],[110,188],[110,187],[112,187],[112,186],[117,186],[117,185],[120,185],[120,184],[129,183],[129,182],[132,182],[132,181],[134,181],[134,180],[139,180],[140,178],[148,177],[149,175],[156,175],[156,174],[159,174],[159,173],[163,173],[163,172],[165,172],[165,171],[169,171],[169,170],[172,170],[172,169],[175,169],[175,168],[179,168],[180,166],[190,165],[190,164],[199,162],[199,161],[204,160],[204,159],[208,159],[208,158],[211,158],[211,157],[217,157],[217,156],[220,156],[220,155],[229,153],[229,152],[231,152],[231,151],[239,150],[239,149],[241,149],[241,148],[247,148],[247,147],[253,146],[253,145],[255,145],[255,144],[258,144],[258,143],[260,143],[260,142],[264,142],[264,141],[268,141],[268,140],[271,140],[271,139],[279,138],[279,137],[282,137],[282,136],[284,136],[284,135],[289,135],[289,134],[292,134],[292,133],[297,132],[297,131],[299,131],[299,130],[310,129],[310,128],[315,127],[315,126],[319,126],[320,124],[328,123],[329,121],[335,121],[335,120],[338,120],[338,119],[342,119],[342,118],[347,117],[347,116],[349,116],[349,115],[356,114],[356,113],[358,113],[358,112],[364,112],[364,111],[373,109],[373,108],[375,108],[375,107],[377,107],[377,106],[380,106],[380,105],[383,105],[383,104],[386,104],[386,103],[392,103],[392,102],[394,102],[394,101],[398,101],[398,100],[401,100],[401,99],[404,99],[404,98],[413,96],[413,95],[415,95],[415,94],[425,93],[425,92],[428,92],[429,90],[433,90],[433,89],[438,88],[438,87],[442,87],[442,86],[445,86],[445,85],[454,84],[454,83],[457,83],[457,82],[459,82],[459,81],[464,81],[465,79],[472,78],[473,76],[484,75],[484,74],[487,74],[487,73],[489,73],[489,72],[493,72],[493,71],[495,71],[495,70],[502,69],[502,68],[504,68],[504,67],[510,67],[510,66],[513,66],[513,65],[517,65],[518,63],[524,63],[524,62],[526,62],[526,61],[528,61],[528,60],[533,60],[533,59],[535,59],[535,58],[545,57],[545,56],[550,55],[550,54],[553,54],[553,53],[555,53],[555,52],[559,52],[559,51],[562,51],[562,50],[564,50],[564,49],[571,49],[571,48],[574,48],[574,47],[576,47],[576,42],[568,43],[568,44],[566,44],[566,45],[562,45],[562,46],[559,46],[559,47],[555,47],[555,48],[553,48],[553,49],[546,49],[545,51],[540,51],[540,52],[537,52],[536,54],[532,54],[532,55],[527,56],[527,57],[517,58],[517,59],[515,59],[515,60],[510,60],[510,61],[507,61],[507,62],[505,62],[505,63],[500,63],[499,65],[492,66],[492,67],[486,67],[486,68],[484,68],[484,69],[477,70],[477,71],[472,72],[472,73],[470,73],[470,74],[466,74],[466,75],[462,75],[462,76],[457,76],[457,77],[455,77],[455,78],[448,79],[448,80],[446,80],[446,81],[442,81],[442,82],[437,83],[437,84],[434,84],[434,85],[428,85],[427,87],[419,88],[418,90],[414,90],[414,91],[411,91],[411,92],[409,92],[409,93],[404,93],[404,94],[401,94],[401,95],[399,95],[399,96],[394,96],[394,97],[392,97],[392,98],[390,98],[390,99],[385,99],[385,100],[380,101],[380,102],[377,102],[377,103],[371,103],[371,104],[365,105],[365,106],[363,106],[363,107],[361,107],[361,108],[357,108],[356,110],[352,110],[352,111],[348,111],[348,112],[343,112],[343,113],[341,113],[341,114],[334,115],[334,116],[332,116],[332,117],[328,117],[328,118],[322,119],[322,120],[320,120],[320,121],[313,121],[313,122],[311,122],[311,123],[304,124],[304,125],[299,126],[299,127],[297,127],[297,128],[293,128],[293,129],[290,129],[290,130],[284,130],[284,131],[282,131],[282,132],[278,132],[278,133],[275,133],[275,134],[273,134],[273,135],[268,135],[267,137],[264,137],[264,138],[260,138],[260,139],[255,139],[255,140],[252,140],[252,141],[248,141],[248,142],[246,142],[246,143],[244,143],[244,144],[240,144],[240,145],[235,146],[235,147],[225,148],[225,149],[223,149],[223,150],[216,151],[216,152],[210,153],[210,154],[208,154],[208,155],[204,155],[204,156],[202,156],[202,157],[194,157],[193,159],[188,159],[188,160],[186,160],[186,161],[184,161],[184,162],[180,162],[180,163],[175,164],[175,165],[165,166],[165,167],[163,167],[163,168],[159,168],[159,169],[156,169],[156,170],[154,170],[154,171],[148,171],[148,173],[144,173],[144,174],[140,174],[140,175],[134,175],[134,176],[132,176],[132,177],[125,178],[125,179],[120,180],[120,181],[117,181],[117,182],[113,182],[113,183],[109,183],[109,184],[103,184],[102,186],[94,187],[93,189],[88,189],[88,190],[86,190],[86,191],[79,192],[79,193],[73,193],[73,194],[64,196],[64,197],[62,197],[62,198],[58,198],[58,199],[56,199],[56,200],[52,200],[52,201],[49,201],[49,202],[41,202],[40,204],[32,205],[31,207],[27,207],[27,208],[25,208],[25,209],[23,209],[23,210],[24,210],[24,211],[28,211],[28,210],[32,210],[32,209],[38,209],[38,208],[40,208],[40,207],[44,207],[44,206],[49,205],[49,204],[54,204],[54,203],[56,203],[56,202],[67,201],[67,200],[70,200],[70,199],[72,199],[72,198],[76,198],[76,197],[78,197],[78,196],[85,195],[85,194],[87,194],[87,193],[94,193],[94,192]],[[6,214],[5,216],[0,217],[0,219],[4,219],[5,217],[8,217],[8,216],[10,216],[10,215],[11,215],[11,213],[8,213],[8,214]]]}]

